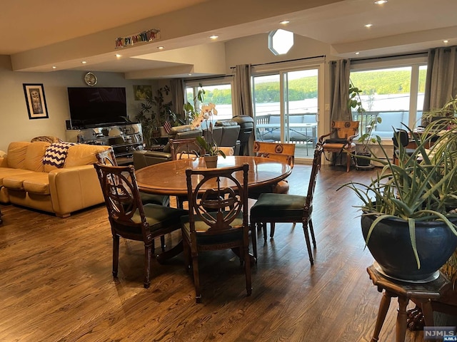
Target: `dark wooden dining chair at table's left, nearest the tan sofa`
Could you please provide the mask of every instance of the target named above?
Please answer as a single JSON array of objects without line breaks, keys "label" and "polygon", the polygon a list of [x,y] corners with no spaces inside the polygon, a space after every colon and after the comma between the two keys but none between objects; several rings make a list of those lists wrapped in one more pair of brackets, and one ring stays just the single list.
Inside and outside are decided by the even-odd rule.
[{"label": "dark wooden dining chair at table's left, nearest the tan sofa", "polygon": [[119,239],[144,242],[144,287],[151,284],[154,239],[181,228],[183,209],[143,204],[136,183],[135,169],[129,166],[94,164],[108,210],[113,235],[113,276],[119,266]]}]

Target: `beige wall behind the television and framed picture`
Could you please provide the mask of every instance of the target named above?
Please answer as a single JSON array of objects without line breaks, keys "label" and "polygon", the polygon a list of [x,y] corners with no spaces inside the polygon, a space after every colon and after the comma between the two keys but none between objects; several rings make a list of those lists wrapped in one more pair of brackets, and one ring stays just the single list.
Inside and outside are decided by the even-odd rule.
[{"label": "beige wall behind the television and framed picture", "polygon": [[[6,152],[11,141],[29,141],[39,135],[54,135],[66,139],[65,120],[69,120],[67,87],[84,87],[85,72],[53,71],[25,73],[11,71],[9,56],[0,56],[0,150]],[[96,72],[100,87],[126,87],[127,113],[133,120],[140,101],[134,101],[133,85],[155,81],[125,80],[122,73]],[[42,83],[49,118],[29,120],[23,83]]]}]

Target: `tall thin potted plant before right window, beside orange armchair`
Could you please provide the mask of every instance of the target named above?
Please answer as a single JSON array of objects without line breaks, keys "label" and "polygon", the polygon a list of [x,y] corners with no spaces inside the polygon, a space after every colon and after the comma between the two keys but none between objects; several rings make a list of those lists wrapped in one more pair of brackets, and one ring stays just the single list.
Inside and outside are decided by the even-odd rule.
[{"label": "tall thin potted plant before right window, beside orange armchair", "polygon": [[[363,90],[357,88],[353,85],[352,82],[349,83],[349,100],[348,108],[349,110],[355,109],[356,112],[361,116],[361,128],[363,128],[363,115],[366,113],[366,110],[363,108],[362,100],[360,94]],[[367,118],[368,119],[368,118]],[[364,167],[373,167],[371,165],[371,152],[368,147],[369,142],[376,142],[376,138],[373,137],[373,130],[376,128],[377,123],[381,123],[381,118],[378,117],[378,114],[371,115],[370,122],[366,125],[365,132],[360,135],[357,139],[360,142],[358,145],[358,151],[356,152],[356,162],[357,169]]]}]

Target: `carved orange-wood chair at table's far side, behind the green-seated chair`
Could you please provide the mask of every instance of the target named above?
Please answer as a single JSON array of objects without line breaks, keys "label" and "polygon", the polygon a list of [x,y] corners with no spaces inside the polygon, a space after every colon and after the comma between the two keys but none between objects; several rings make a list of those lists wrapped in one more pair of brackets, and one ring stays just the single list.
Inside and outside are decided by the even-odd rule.
[{"label": "carved orange-wood chair at table's far side, behind the green-seated chair", "polygon": [[[271,160],[276,160],[278,162],[285,162],[291,167],[293,167],[295,160],[295,144],[293,143],[254,141],[253,152],[257,157],[270,158]],[[287,180],[281,180],[276,184],[249,189],[248,197],[258,199],[258,196],[264,192],[286,194],[288,192],[288,188]]]}]

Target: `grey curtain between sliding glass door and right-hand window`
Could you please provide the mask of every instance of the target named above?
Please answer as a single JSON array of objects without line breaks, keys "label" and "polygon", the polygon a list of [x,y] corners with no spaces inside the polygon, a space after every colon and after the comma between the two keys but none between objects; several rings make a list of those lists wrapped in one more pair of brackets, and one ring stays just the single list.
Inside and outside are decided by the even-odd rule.
[{"label": "grey curtain between sliding glass door and right-hand window", "polygon": [[331,121],[352,121],[348,109],[350,69],[351,62],[347,59],[330,62]]}]

